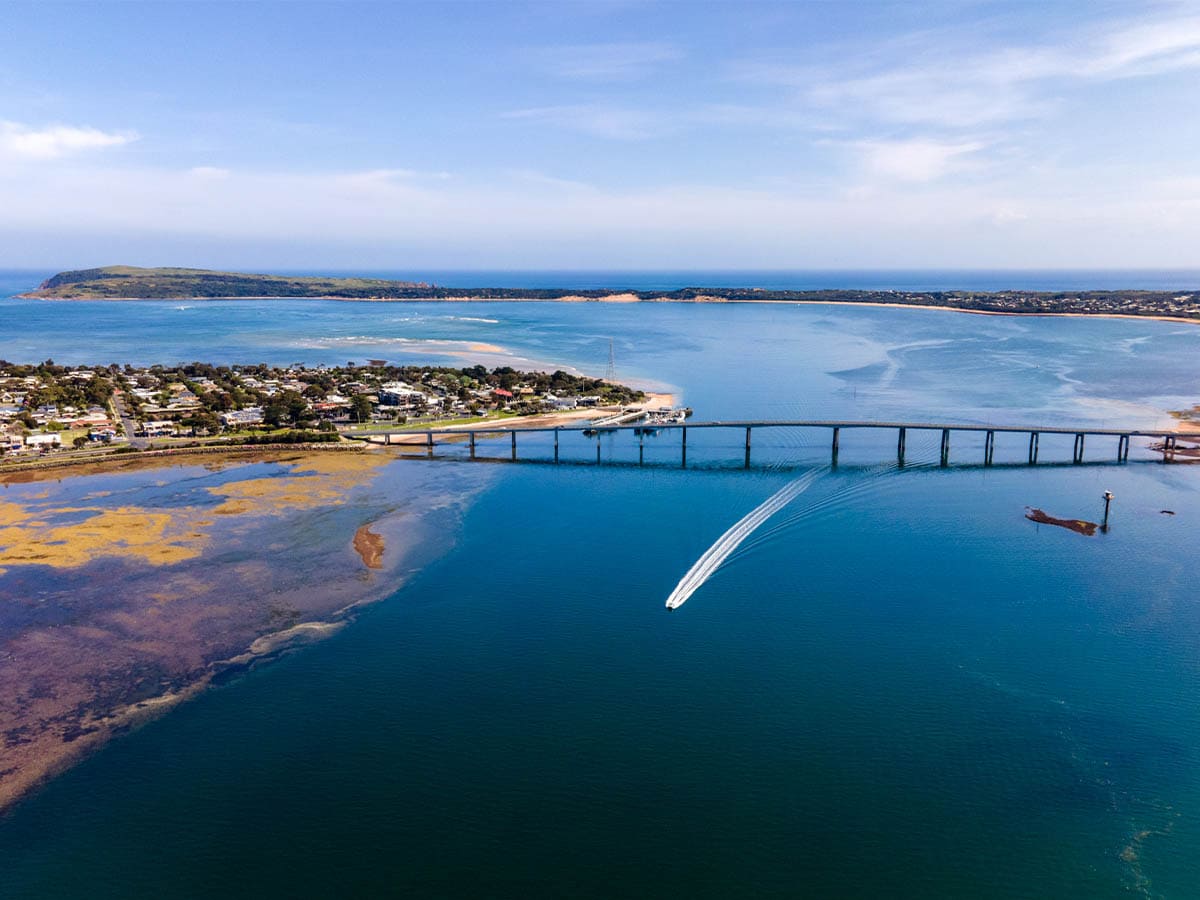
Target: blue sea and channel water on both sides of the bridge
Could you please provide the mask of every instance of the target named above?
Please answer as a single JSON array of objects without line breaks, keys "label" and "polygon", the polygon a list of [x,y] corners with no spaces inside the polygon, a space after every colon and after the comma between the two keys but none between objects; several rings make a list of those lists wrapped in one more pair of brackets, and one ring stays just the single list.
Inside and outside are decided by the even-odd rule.
[{"label": "blue sea and channel water on both sides of the bridge", "polygon": [[[1200,328],[792,305],[47,302],[0,358],[572,368],[697,420],[1163,427]],[[1200,272],[394,272],[444,284],[1188,289]],[[724,278],[724,280],[720,280]],[[474,280],[474,281],[472,281]],[[329,640],[0,817],[0,898],[1200,895],[1200,469],[1116,439],[630,433],[461,450],[437,553]],[[502,457],[506,443],[481,444]],[[731,464],[733,463],[733,464]],[[486,473],[481,476],[480,473]],[[413,474],[409,474],[413,473]],[[811,473],[811,474],[809,474]],[[679,610],[688,569],[811,485]],[[167,478],[167,476],[163,476]],[[150,490],[150,488],[148,488]],[[169,491],[170,486],[163,486]],[[1027,506],[1112,527],[1084,536]],[[16,499],[16,498],[13,498]],[[1164,515],[1170,510],[1174,515]],[[295,535],[294,540],[314,540]],[[4,602],[4,598],[0,598]],[[0,666],[4,635],[0,635]]]}]

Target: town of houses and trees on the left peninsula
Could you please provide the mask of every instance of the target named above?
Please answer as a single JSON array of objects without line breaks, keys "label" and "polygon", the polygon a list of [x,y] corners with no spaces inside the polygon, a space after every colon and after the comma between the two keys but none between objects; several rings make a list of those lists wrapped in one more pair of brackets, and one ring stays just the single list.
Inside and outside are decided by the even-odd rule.
[{"label": "town of houses and trees on the left peninsula", "polygon": [[0,455],[185,440],[336,440],[372,425],[448,425],[622,406],[644,394],[510,367],[60,366],[0,361]]}]

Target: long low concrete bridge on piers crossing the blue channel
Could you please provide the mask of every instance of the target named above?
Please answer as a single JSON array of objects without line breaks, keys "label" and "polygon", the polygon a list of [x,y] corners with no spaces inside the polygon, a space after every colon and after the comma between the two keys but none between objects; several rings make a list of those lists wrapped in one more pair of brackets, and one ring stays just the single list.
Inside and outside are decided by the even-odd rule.
[{"label": "long low concrete bridge on piers crossing the blue channel", "polygon": [[[941,433],[941,466],[950,464],[950,438],[956,432],[982,433],[984,436],[983,464],[991,466],[996,449],[996,434],[1027,434],[1028,436],[1028,464],[1038,462],[1038,450],[1043,434],[1067,434],[1074,438],[1072,462],[1082,463],[1084,451],[1088,438],[1104,439],[1115,438],[1115,457],[1117,462],[1126,462],[1129,458],[1129,444],[1133,438],[1147,438],[1160,440],[1158,448],[1163,454],[1163,461],[1169,462],[1175,458],[1177,442],[1200,442],[1200,432],[1174,432],[1174,431],[1145,431],[1139,428],[1091,428],[1091,427],[1060,427],[1060,426],[1015,426],[1015,425],[954,425],[938,422],[896,422],[896,421],[832,421],[832,420],[749,420],[749,421],[707,421],[707,422],[678,422],[670,425],[592,425],[581,422],[576,425],[540,426],[540,427],[504,427],[486,426],[480,422],[479,427],[457,426],[446,428],[404,428],[395,431],[372,431],[370,433],[348,434],[347,437],[360,440],[382,438],[384,444],[396,444],[402,446],[421,446],[427,456],[433,456],[434,448],[446,439],[452,443],[461,443],[464,438],[469,444],[470,458],[475,458],[475,442],[480,436],[498,437],[510,436],[510,455],[517,458],[517,437],[521,434],[553,434],[554,437],[554,461],[558,461],[559,436],[570,433],[587,433],[588,436],[607,434],[622,431],[632,431],[638,438],[638,458],[644,455],[644,439],[649,432],[673,432],[680,433],[680,464],[688,464],[688,432],[702,430],[725,428],[738,433],[745,433],[744,464],[750,466],[750,451],[752,446],[754,432],[764,428],[808,428],[824,430],[829,432],[830,461],[838,464],[838,452],[841,444],[842,432],[856,430],[882,430],[893,431],[896,434],[896,461],[905,464],[906,445],[908,432],[926,431]],[[1114,452],[1114,450],[1110,450]],[[1112,457],[1110,457],[1112,458]],[[596,462],[600,462],[600,442],[596,442]]]}]

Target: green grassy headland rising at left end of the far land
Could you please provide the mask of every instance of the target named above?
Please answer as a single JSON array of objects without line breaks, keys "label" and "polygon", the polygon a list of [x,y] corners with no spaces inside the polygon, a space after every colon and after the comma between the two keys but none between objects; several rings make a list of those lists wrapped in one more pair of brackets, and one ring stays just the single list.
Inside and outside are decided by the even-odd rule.
[{"label": "green grassy headland rising at left end of the far land", "polygon": [[71,300],[118,298],[191,300],[238,296],[402,296],[426,287],[383,278],[320,278],[284,275],[242,275],[206,269],[139,269],[108,265],[59,272],[29,296]]}]

